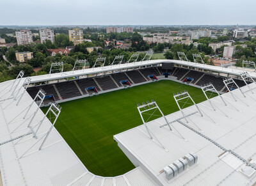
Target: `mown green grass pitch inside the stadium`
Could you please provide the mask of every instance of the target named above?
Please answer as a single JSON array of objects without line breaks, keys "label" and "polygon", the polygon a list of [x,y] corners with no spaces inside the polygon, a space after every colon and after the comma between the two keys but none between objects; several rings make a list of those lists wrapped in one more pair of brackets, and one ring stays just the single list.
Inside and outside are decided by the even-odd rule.
[{"label": "mown green grass pitch inside the stadium", "polygon": [[154,99],[164,115],[170,114],[179,110],[173,92],[184,89],[196,103],[206,100],[201,89],[168,80],[152,82],[62,103],[55,127],[89,171],[118,176],[134,166],[113,136],[142,124],[137,104]]}]

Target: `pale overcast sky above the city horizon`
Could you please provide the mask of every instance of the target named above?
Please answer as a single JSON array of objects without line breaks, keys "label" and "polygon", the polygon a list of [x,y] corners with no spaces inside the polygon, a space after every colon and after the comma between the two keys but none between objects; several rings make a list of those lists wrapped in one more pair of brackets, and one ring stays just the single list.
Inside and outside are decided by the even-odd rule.
[{"label": "pale overcast sky above the city horizon", "polygon": [[256,24],[256,0],[0,0],[0,25]]}]

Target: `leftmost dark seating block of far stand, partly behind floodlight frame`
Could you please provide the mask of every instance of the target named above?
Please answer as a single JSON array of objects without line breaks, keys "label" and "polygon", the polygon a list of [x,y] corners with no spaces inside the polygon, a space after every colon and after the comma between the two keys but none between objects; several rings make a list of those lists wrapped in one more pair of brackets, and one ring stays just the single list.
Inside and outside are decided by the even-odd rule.
[{"label": "leftmost dark seating block of far stand, partly behind floodlight frame", "polygon": [[43,89],[46,92],[46,95],[53,95],[55,100],[60,100],[58,97],[58,94],[56,93],[53,84],[45,84],[42,86],[34,86],[34,87],[29,87],[27,89],[29,95],[31,98],[35,98],[36,94],[38,93],[39,89]]}]

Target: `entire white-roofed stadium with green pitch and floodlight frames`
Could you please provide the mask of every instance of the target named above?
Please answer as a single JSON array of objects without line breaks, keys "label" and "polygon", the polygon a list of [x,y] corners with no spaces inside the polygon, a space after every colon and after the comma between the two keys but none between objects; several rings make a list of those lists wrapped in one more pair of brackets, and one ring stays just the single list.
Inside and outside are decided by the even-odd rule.
[{"label": "entire white-roofed stadium with green pitch and floodlight frames", "polygon": [[178,54],[0,83],[0,185],[255,185],[255,69]]}]

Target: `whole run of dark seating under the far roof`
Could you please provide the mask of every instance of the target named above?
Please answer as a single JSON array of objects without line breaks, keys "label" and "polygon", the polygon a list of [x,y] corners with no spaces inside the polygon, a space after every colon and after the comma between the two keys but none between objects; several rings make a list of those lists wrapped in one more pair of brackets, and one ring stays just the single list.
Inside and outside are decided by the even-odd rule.
[{"label": "whole run of dark seating under the far roof", "polygon": [[[190,77],[193,79],[193,81],[191,82],[192,84],[196,83],[196,85],[202,86],[204,84],[208,84],[211,82],[218,91],[223,91],[223,92],[227,91],[227,88],[225,88],[225,84],[223,83],[223,78],[225,78],[225,77],[218,77],[218,76],[212,75],[212,74],[205,74],[204,72],[200,72],[200,71],[196,71],[196,70],[190,70],[188,72],[189,69],[186,69],[186,68],[175,67],[175,68],[173,68],[173,70],[174,69],[175,69],[175,72],[173,71],[174,72],[173,76],[177,77],[177,79],[180,81],[184,81],[184,79],[186,79],[186,77]],[[163,70],[161,70],[161,68],[159,68],[159,70],[161,72],[163,72]],[[169,71],[171,72],[172,70],[169,70]],[[148,79],[148,75],[156,75],[156,76],[159,75],[159,73],[157,72],[157,69],[154,67],[142,68],[142,69],[140,69],[140,72],[147,79]],[[126,80],[129,81],[129,77],[132,79],[134,84],[137,84],[137,83],[146,81],[145,78],[140,74],[140,72],[138,70],[132,70],[132,71],[127,71],[127,72],[111,74],[111,76],[113,77],[113,79],[115,80],[115,82],[118,85],[120,85],[120,81],[126,81]],[[164,72],[166,72],[166,70],[164,70]],[[127,75],[125,75],[125,73],[127,73],[127,75],[129,77],[127,77]],[[188,74],[186,74],[186,73],[188,73]],[[204,78],[200,79],[200,77],[202,77],[202,75],[204,75]],[[182,77],[184,77],[184,78],[182,78]],[[113,79],[111,79],[110,76],[95,78],[95,80],[98,82],[98,85],[102,88],[103,91],[108,90],[108,89],[117,88]],[[198,79],[200,79],[200,80],[198,81]],[[150,79],[148,79],[148,80],[150,80]],[[85,90],[86,88],[93,87],[93,86],[97,89],[97,91],[100,91],[99,86],[97,85],[97,83],[95,81],[93,81],[92,78],[79,79],[79,80],[75,80],[75,81],[77,82],[77,85],[79,86],[81,91],[83,91],[84,94],[88,93],[88,91]],[[60,82],[60,83],[54,84],[54,86],[56,86],[58,92],[60,93],[60,96],[62,99],[81,96],[81,92],[77,88],[75,81],[66,81],[66,82]],[[242,80],[234,79],[234,81],[237,83],[237,85],[239,87],[242,87],[245,85],[245,83]],[[125,86],[126,83],[123,82],[122,84]],[[44,89],[44,91],[47,92],[47,95],[53,95],[55,100],[60,100],[60,98],[58,97],[58,93],[56,93],[56,89],[54,89],[54,86],[53,86],[53,84],[47,84],[47,85],[42,85],[42,86],[30,87],[30,88],[28,88],[28,93],[29,93],[29,95],[31,95],[32,98],[35,98],[35,95],[36,95],[36,93],[38,93],[38,90],[40,88],[42,88],[42,89]],[[232,86],[232,88],[236,88],[236,87]]]}]

